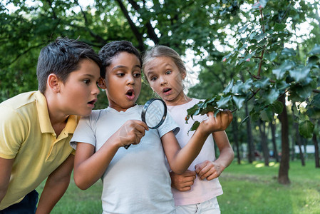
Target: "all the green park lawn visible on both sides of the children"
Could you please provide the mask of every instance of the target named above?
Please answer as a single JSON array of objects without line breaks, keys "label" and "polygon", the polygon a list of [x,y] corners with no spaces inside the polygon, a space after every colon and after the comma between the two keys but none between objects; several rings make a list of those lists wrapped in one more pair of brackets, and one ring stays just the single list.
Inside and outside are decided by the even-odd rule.
[{"label": "all the green park lawn visible on both sides of the children", "polygon": [[[238,165],[234,161],[220,176],[224,194],[217,200],[222,213],[320,213],[320,169],[314,167],[314,161],[306,161],[304,167],[300,161],[291,162],[290,185],[277,182],[278,171],[279,163],[264,167],[262,162]],[[43,185],[37,188],[39,193]],[[101,190],[100,180],[88,190],[80,190],[71,179],[52,213],[102,213]]]}]

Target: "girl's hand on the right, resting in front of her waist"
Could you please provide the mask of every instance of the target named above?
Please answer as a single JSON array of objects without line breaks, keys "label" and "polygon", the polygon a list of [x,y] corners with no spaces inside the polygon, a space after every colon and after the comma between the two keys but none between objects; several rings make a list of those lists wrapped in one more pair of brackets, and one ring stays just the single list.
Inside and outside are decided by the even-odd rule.
[{"label": "girl's hand on the right, resting in front of her waist", "polygon": [[199,175],[200,179],[212,180],[221,175],[224,170],[224,166],[212,161],[203,161],[195,165],[195,172]]}]

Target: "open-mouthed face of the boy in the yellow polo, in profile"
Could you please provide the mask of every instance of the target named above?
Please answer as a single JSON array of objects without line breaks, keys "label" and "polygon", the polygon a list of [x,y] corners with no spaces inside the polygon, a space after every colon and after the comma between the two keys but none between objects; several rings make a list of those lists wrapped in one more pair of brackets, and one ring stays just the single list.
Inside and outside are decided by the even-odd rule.
[{"label": "open-mouthed face of the boy in the yellow polo, in profile", "polygon": [[88,116],[97,101],[99,66],[89,59],[79,63],[79,69],[69,74],[61,84],[58,105],[66,115]]}]

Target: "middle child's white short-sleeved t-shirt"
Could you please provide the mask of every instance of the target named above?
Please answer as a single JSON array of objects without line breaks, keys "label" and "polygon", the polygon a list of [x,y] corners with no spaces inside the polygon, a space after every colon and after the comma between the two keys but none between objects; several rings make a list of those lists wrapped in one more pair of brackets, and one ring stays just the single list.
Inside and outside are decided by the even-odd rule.
[{"label": "middle child's white short-sleeved t-shirt", "polygon": [[[81,118],[74,142],[90,143],[98,151],[103,143],[128,120],[141,120],[142,106],[127,111],[113,108],[93,111]],[[160,137],[179,128],[167,114],[157,129],[149,129],[138,145],[119,148],[103,174],[103,213],[175,213],[171,180],[165,165]]]}]

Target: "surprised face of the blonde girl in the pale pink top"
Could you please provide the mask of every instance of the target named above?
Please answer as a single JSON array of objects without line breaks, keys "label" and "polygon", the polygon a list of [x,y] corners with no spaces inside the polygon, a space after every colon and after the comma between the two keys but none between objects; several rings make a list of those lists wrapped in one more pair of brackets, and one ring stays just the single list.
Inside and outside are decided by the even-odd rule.
[{"label": "surprised face of the blonde girl in the pale pink top", "polygon": [[160,56],[145,65],[145,76],[151,88],[168,105],[177,105],[185,101],[182,80],[185,72],[181,72],[170,57]]}]

